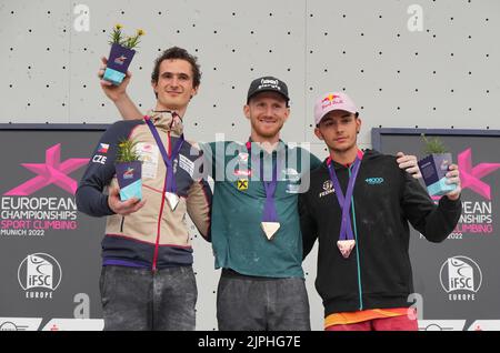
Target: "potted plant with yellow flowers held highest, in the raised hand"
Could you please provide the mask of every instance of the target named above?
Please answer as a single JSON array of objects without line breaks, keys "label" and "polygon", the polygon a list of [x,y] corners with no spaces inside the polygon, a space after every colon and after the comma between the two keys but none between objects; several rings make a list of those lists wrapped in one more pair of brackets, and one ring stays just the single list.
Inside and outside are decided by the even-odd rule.
[{"label": "potted plant with yellow flowers held highest, in the raised hand", "polygon": [[133,48],[139,44],[139,39],[144,36],[144,31],[139,29],[137,30],[136,36],[126,37],[121,31],[122,28],[121,24],[116,24],[113,27],[111,40],[109,41],[111,44],[111,52],[108,58],[108,65],[103,77],[104,80],[114,85],[118,85],[123,81],[130,62],[136,54]]}]

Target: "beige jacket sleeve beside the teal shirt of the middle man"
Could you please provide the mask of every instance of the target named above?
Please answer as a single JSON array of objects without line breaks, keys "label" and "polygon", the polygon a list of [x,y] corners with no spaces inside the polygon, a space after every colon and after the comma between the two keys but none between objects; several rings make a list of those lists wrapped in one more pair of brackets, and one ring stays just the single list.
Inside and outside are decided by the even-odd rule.
[{"label": "beige jacket sleeve beside the teal shirt of the middle man", "polygon": [[[201,154],[203,153],[200,153],[199,159],[204,158]],[[204,168],[204,164],[201,164],[201,168]],[[191,221],[194,223],[200,234],[204,238],[204,240],[210,242],[212,191],[206,178],[194,180],[191,188],[189,188],[187,209]]]}]

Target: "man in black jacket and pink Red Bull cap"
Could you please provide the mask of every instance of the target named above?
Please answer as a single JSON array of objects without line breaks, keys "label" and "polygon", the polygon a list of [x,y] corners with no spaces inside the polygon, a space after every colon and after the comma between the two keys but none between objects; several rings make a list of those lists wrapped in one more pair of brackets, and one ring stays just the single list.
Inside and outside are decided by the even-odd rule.
[{"label": "man in black jacket and pink Red Bull cap", "polygon": [[458,167],[447,173],[457,188],[436,205],[396,157],[358,148],[361,120],[347,94],[321,95],[314,122],[330,157],[311,172],[299,209],[304,258],[319,239],[324,327],[418,330],[407,301],[413,293],[408,222],[431,242],[453,231],[461,213]]}]

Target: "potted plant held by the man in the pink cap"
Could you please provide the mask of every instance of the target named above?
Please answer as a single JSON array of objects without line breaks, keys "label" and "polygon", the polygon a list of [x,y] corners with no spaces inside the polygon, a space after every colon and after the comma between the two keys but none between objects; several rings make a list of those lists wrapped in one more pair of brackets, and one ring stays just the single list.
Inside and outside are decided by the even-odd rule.
[{"label": "potted plant held by the man in the pink cap", "polygon": [[451,153],[439,138],[428,139],[422,133],[426,158],[418,161],[423,182],[431,196],[444,195],[457,188],[457,184],[447,184],[446,174],[451,164]]}]

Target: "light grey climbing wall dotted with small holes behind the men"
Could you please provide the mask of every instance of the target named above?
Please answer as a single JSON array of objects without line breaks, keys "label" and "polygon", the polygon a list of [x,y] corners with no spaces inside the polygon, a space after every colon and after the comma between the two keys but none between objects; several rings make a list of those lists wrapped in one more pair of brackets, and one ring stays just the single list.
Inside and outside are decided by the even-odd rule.
[{"label": "light grey climbing wall dotted with small holes behind the men", "polygon": [[[358,104],[362,148],[379,127],[500,129],[496,0],[3,0],[0,23],[0,123],[120,119],[97,71],[121,23],[146,31],[128,90],[142,111],[154,104],[150,74],[162,50],[179,46],[199,58],[201,87],[186,115],[192,140],[212,141],[216,133],[246,140],[248,85],[267,74],[290,90],[282,139],[309,142],[321,158],[312,105],[327,91],[344,91]],[[198,327],[214,330],[219,272],[210,246],[200,240],[194,246]],[[322,330],[314,266],[310,256],[311,324]]]}]

